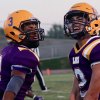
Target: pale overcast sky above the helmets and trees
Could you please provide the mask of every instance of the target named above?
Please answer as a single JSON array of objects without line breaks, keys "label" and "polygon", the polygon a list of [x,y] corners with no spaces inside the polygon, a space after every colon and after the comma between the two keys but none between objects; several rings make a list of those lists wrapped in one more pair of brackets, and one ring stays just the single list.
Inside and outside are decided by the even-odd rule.
[{"label": "pale overcast sky above the helmets and trees", "polygon": [[99,0],[0,0],[0,26],[13,11],[24,9],[33,13],[41,21],[45,30],[53,24],[63,25],[63,17],[70,7],[79,2],[91,4],[100,13]]}]

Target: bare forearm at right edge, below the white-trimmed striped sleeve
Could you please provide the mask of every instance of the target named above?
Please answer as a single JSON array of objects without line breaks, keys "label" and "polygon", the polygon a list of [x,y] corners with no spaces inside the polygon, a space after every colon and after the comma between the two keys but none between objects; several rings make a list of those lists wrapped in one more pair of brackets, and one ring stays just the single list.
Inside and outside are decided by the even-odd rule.
[{"label": "bare forearm at right edge, below the white-trimmed striped sleeve", "polygon": [[98,100],[100,93],[100,63],[92,66],[92,77],[84,100]]}]

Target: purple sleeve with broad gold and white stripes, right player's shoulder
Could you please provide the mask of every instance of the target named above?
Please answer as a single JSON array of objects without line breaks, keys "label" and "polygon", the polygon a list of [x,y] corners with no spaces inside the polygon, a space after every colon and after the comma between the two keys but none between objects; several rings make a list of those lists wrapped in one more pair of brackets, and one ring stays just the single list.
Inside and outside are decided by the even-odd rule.
[{"label": "purple sleeve with broad gold and white stripes, right player's shoulder", "polygon": [[91,65],[100,63],[100,39],[89,44],[83,51],[83,56],[90,61]]}]

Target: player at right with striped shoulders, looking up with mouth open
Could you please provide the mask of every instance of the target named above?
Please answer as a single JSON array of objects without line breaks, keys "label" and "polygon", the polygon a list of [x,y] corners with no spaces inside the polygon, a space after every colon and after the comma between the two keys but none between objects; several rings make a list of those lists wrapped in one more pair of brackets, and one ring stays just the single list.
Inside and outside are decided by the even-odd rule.
[{"label": "player at right with striped shoulders, looking up with mouth open", "polygon": [[64,16],[65,34],[76,39],[69,54],[75,76],[70,100],[100,100],[99,26],[96,10],[87,3],[73,5]]}]

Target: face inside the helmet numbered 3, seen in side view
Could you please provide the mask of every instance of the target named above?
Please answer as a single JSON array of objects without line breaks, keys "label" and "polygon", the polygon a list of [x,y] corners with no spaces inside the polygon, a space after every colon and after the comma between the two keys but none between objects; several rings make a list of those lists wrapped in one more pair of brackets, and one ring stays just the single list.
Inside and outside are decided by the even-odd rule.
[{"label": "face inside the helmet numbered 3, seen in side view", "polygon": [[25,23],[23,27],[23,31],[26,34],[29,34],[28,38],[33,41],[33,40],[38,40],[38,33],[36,32],[36,29],[38,29],[38,25],[36,23]]}]

